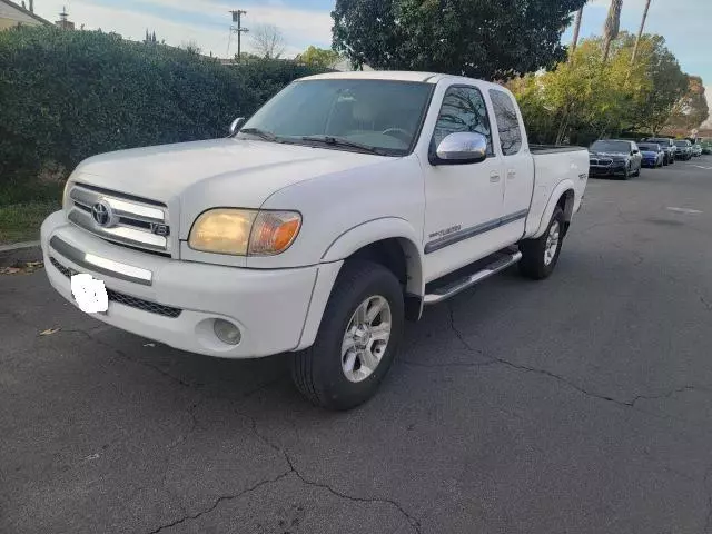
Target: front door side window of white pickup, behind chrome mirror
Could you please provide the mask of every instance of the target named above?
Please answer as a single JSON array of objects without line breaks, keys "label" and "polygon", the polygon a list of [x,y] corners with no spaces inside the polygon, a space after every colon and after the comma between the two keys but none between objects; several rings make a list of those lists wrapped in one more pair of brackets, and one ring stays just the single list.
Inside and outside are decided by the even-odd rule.
[{"label": "front door side window of white pickup, behind chrome mirror", "polygon": [[433,142],[437,147],[449,134],[461,131],[473,131],[485,136],[487,156],[494,156],[487,106],[482,92],[475,87],[455,86],[447,89],[435,125]]}]

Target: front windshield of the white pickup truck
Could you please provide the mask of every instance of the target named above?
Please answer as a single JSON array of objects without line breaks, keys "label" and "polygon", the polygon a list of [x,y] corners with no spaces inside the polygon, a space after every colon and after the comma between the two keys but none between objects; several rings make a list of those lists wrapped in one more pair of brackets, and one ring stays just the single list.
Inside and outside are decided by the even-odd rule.
[{"label": "front windshield of the white pickup truck", "polygon": [[[306,80],[287,86],[245,125],[276,136],[274,140],[313,145],[327,137],[408,154],[418,137],[433,85],[386,80]],[[327,145],[358,150],[347,144]]]}]

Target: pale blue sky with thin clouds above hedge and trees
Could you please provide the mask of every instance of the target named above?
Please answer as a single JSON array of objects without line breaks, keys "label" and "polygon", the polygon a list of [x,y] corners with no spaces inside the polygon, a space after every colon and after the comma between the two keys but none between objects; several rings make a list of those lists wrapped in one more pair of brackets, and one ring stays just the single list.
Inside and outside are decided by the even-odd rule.
[{"label": "pale blue sky with thin clouds above hedge and trees", "polygon": [[[19,3],[19,0],[17,0]],[[29,0],[26,0],[28,2]],[[204,53],[231,57],[237,51],[230,39],[231,9],[247,11],[246,28],[270,23],[281,29],[285,56],[293,57],[309,44],[328,48],[332,42],[330,11],[335,0],[34,0],[34,11],[51,21],[62,6],[77,27],[116,31],[140,40],[146,30],[159,40],[180,46],[195,42]],[[636,32],[644,0],[624,0],[621,28]],[[591,0],[584,10],[581,36],[600,34],[610,0]],[[646,31],[662,34],[682,69],[701,76],[712,103],[712,0],[652,0]],[[571,41],[572,29],[563,41]],[[244,39],[250,50],[250,38]]]}]

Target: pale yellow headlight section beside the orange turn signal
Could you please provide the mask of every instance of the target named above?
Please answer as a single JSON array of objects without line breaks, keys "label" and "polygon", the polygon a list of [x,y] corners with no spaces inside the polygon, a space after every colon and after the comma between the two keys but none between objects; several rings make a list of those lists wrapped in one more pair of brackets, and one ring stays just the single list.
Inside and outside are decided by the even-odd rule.
[{"label": "pale yellow headlight section beside the orange turn signal", "polygon": [[188,245],[196,250],[244,256],[257,211],[211,209],[204,212],[190,230]]}]

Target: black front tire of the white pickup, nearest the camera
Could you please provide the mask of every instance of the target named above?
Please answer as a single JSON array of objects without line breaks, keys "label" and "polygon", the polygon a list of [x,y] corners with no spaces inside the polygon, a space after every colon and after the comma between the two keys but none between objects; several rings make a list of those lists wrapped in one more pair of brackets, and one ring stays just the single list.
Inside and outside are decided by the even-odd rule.
[{"label": "black front tire of the white pickup, nearest the camera", "polygon": [[[349,355],[353,356],[352,352],[357,350],[358,346],[354,345],[345,355],[343,346],[347,329],[354,324],[357,309],[369,298],[382,298],[387,301],[390,337],[386,342],[380,359],[368,375],[366,375],[368,366],[364,364],[362,367],[362,359],[354,356],[350,360],[352,379],[349,379],[344,368],[345,362]],[[376,316],[374,322],[385,322],[383,314],[384,312],[379,313],[380,317]],[[372,261],[347,261],[336,279],[314,345],[296,354],[291,360],[291,378],[295,386],[313,404],[327,409],[345,411],[365,403],[375,395],[390,368],[403,334],[403,288],[395,275]],[[358,330],[355,332],[358,333]],[[382,343],[369,339],[369,334],[364,336],[368,336],[368,338],[362,338],[366,339],[364,342],[366,346],[374,344],[372,348]],[[354,339],[356,334],[353,335],[352,342]],[[375,354],[380,349],[383,345],[373,352],[368,350],[368,354]]]}]

